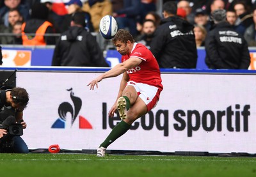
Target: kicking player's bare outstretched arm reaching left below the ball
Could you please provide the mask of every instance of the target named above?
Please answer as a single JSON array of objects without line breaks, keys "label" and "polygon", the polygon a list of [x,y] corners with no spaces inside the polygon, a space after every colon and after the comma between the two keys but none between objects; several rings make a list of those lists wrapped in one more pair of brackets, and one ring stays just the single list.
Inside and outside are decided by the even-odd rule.
[{"label": "kicking player's bare outstretched arm reaching left below the ball", "polygon": [[102,79],[106,79],[109,77],[116,77],[120,75],[121,73],[126,72],[127,70],[134,68],[140,63],[142,60],[140,58],[132,57],[124,61],[123,63],[119,63],[118,65],[111,68],[111,70],[108,70],[108,72],[102,73],[99,77],[91,81],[87,86],[90,86],[90,89],[94,89],[94,86],[98,88],[98,82],[102,81]]}]

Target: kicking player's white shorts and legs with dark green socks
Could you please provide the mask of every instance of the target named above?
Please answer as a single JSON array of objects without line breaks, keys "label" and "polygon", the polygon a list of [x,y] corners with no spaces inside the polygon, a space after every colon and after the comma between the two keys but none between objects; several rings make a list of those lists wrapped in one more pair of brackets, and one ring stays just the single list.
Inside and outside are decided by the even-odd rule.
[{"label": "kicking player's white shorts and legs with dark green socks", "polygon": [[[118,139],[118,137],[124,135],[136,119],[146,114],[147,111],[150,111],[157,104],[159,95],[159,89],[154,86],[132,82],[128,83],[123,91],[123,96],[120,97],[122,98],[125,106],[118,106],[120,107],[118,110],[118,112],[120,112],[119,114],[125,112],[125,119],[122,119],[122,121],[120,121],[120,123],[113,128],[106,140],[100,144],[100,148],[97,150],[97,156],[104,157],[106,148],[109,146],[109,144]],[[126,107],[127,102],[131,104],[130,108]],[[129,111],[126,111],[126,109],[129,109]]]}]

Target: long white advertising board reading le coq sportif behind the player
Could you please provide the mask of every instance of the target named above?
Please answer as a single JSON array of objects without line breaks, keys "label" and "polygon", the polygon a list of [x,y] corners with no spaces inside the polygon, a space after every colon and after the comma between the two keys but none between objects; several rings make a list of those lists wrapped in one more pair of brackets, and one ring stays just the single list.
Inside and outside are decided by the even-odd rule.
[{"label": "long white advertising board reading le coq sportif behind the player", "polygon": [[[108,118],[121,76],[86,85],[95,72],[17,72],[28,90],[22,136],[29,149],[59,144],[94,150],[120,119]],[[157,106],[132,124],[110,150],[256,153],[256,78],[237,73],[162,73]]]}]

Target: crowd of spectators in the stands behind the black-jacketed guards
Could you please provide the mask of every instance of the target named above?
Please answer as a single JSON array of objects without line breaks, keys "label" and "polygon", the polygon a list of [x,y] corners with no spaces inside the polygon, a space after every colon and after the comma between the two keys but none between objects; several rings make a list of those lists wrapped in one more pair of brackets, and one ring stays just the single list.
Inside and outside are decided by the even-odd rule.
[{"label": "crowd of spectators in the stands behind the black-jacketed guards", "polygon": [[207,33],[216,26],[212,13],[220,9],[225,10],[227,22],[243,36],[248,47],[256,46],[255,0],[3,0],[0,44],[56,45],[70,28],[74,13],[79,12],[89,33],[99,33],[100,19],[113,15],[119,29],[129,30],[136,42],[150,49],[156,30],[166,21],[163,10],[159,10],[166,2],[175,3],[175,15],[194,27],[196,47],[205,46]]}]

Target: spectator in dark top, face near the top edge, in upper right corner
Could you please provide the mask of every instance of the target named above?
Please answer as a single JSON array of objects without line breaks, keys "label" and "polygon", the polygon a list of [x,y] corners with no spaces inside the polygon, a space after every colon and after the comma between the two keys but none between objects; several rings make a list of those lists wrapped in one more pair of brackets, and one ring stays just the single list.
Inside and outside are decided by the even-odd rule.
[{"label": "spectator in dark top, face near the top edge, in upper right corner", "polygon": [[253,24],[253,15],[243,1],[234,4],[234,10],[237,15],[236,25],[242,24],[245,28]]}]

